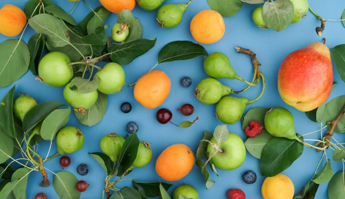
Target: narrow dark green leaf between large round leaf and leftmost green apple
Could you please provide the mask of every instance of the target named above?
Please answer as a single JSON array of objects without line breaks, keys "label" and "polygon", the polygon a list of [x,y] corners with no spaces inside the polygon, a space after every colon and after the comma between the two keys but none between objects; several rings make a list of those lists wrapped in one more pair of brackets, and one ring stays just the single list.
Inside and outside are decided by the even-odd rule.
[{"label": "narrow dark green leaf between large round leaf and leftmost green apple", "polygon": [[30,51],[30,64],[29,69],[31,73],[38,76],[38,64],[41,60],[43,49],[45,47],[45,38],[42,34],[34,34],[31,36],[28,42],[28,48]]}]

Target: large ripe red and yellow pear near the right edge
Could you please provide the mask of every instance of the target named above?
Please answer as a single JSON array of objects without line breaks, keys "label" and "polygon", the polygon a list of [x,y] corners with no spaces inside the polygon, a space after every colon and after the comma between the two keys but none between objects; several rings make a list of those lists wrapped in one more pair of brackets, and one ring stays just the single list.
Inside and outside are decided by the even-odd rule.
[{"label": "large ripe red and yellow pear near the right edge", "polygon": [[331,53],[315,42],[290,53],[278,72],[278,91],[282,99],[300,111],[311,111],[331,93],[333,66]]}]

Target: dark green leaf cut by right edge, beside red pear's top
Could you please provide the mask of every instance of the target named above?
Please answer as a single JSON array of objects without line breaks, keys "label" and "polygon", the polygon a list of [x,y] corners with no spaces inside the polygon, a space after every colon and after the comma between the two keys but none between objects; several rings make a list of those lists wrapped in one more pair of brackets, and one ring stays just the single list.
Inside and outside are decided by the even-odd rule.
[{"label": "dark green leaf cut by right edge, beside red pear's top", "polygon": [[[344,10],[345,12],[345,10]],[[343,16],[344,16],[343,12]],[[343,21],[343,24],[345,21]],[[345,82],[345,44],[337,45],[329,49],[332,53],[335,67],[337,68],[340,78]]]}]

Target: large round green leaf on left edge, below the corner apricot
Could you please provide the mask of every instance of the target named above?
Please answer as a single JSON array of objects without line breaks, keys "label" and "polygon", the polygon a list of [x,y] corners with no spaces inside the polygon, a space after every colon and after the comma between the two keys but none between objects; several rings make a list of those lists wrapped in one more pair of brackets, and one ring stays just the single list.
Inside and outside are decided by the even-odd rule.
[{"label": "large round green leaf on left edge, below the corner apricot", "polygon": [[0,55],[0,87],[5,87],[28,71],[30,52],[23,41],[9,39],[0,43]]}]

